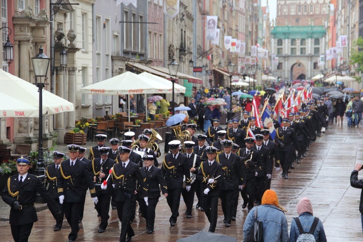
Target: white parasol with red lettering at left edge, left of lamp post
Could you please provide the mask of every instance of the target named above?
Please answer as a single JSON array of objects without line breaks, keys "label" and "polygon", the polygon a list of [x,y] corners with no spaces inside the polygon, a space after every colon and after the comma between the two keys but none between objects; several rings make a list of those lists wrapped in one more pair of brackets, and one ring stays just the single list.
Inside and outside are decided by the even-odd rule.
[{"label": "white parasol with red lettering at left edge, left of lamp post", "polygon": [[4,93],[0,95],[0,118],[39,117],[39,109]]}]

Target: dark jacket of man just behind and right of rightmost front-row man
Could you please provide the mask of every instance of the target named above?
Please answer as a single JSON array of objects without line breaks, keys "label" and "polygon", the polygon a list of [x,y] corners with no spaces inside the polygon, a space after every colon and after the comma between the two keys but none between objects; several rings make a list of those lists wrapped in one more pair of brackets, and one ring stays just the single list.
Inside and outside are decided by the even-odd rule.
[{"label": "dark jacket of man just behind and right of rightmost front-row man", "polygon": [[219,184],[221,190],[234,190],[245,180],[240,157],[232,152],[229,155],[228,160],[224,152],[216,156],[216,161],[222,165],[223,179]]}]

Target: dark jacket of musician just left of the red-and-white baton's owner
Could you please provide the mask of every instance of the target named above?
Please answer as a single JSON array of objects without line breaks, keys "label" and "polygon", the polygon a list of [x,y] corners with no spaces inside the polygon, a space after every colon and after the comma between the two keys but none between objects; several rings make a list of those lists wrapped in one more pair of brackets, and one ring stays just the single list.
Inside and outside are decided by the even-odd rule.
[{"label": "dark jacket of musician just left of the red-and-white baton's owner", "polygon": [[[94,176],[96,177],[96,182],[94,183],[94,188],[96,189],[96,194],[111,194],[112,193],[112,187],[111,186],[107,186],[106,190],[101,189],[101,184],[107,179],[108,175],[109,175],[109,171],[112,168],[113,165],[116,164],[115,160],[112,160],[110,158],[107,157],[102,169],[103,172],[105,173],[105,177],[101,178],[100,180],[100,171],[101,171],[101,158],[96,158],[93,159],[92,161],[92,169],[91,169],[91,177],[93,178]],[[108,179],[110,180],[110,178]],[[96,185],[98,184],[98,185]]]}]

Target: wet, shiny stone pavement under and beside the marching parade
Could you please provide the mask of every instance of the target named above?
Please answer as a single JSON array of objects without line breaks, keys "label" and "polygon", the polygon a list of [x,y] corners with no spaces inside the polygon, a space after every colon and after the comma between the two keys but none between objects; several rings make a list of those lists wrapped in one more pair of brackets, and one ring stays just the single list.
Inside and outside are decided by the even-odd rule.
[{"label": "wet, shiny stone pavement under and beside the marching parade", "polygon": [[[317,138],[301,164],[295,164],[288,179],[281,177],[280,172],[273,172],[271,188],[276,191],[280,205],[287,209],[287,222],[298,214],[296,204],[302,197],[309,197],[314,215],[323,222],[328,241],[363,241],[361,214],[359,212],[360,189],[350,187],[349,177],[355,162],[362,162],[363,148],[360,143],[363,137],[363,127],[348,128],[330,125],[325,134]],[[87,148],[93,143],[88,142]],[[160,144],[164,151],[164,143]],[[65,151],[65,146],[55,147],[57,151]],[[162,155],[163,156],[163,155]],[[159,158],[159,163],[161,162]],[[363,178],[360,174],[359,178]],[[182,198],[181,198],[182,199]],[[161,197],[156,207],[154,234],[147,234],[145,220],[136,215],[132,224],[136,236],[132,241],[177,241],[180,238],[193,235],[200,230],[208,231],[209,223],[204,212],[195,209],[195,197],[192,218],[184,215],[185,204],[181,201],[180,214],[175,227],[170,227],[170,210],[166,198]],[[77,241],[118,241],[121,223],[116,210],[110,211],[109,225],[105,233],[98,233],[100,218],[93,208],[88,195],[85,204],[83,222],[80,224]],[[38,222],[33,226],[29,241],[68,241],[70,227],[66,221],[60,231],[54,232],[55,221],[44,204],[37,204]],[[45,209],[45,210],[44,210]],[[136,208],[137,209],[137,208]],[[239,200],[237,220],[231,227],[223,224],[222,209],[218,207],[218,223],[216,233],[236,237],[242,241],[242,228],[247,209],[242,209],[242,198]],[[13,241],[10,226],[7,221],[9,206],[0,201],[0,234],[1,241]]]}]

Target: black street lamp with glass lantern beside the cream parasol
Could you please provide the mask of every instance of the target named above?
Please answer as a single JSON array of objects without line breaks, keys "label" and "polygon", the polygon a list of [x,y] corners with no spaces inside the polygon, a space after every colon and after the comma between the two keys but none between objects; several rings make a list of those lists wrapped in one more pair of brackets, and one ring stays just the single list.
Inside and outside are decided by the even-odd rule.
[{"label": "black street lamp with glass lantern beside the cream parasol", "polygon": [[[39,91],[39,147],[38,147],[38,162],[35,174],[44,176],[44,157],[43,157],[43,88],[47,79],[50,58],[43,53],[43,48],[39,48],[39,54],[31,58],[31,63],[34,69],[35,86]],[[44,82],[42,81],[44,80]]]}]

